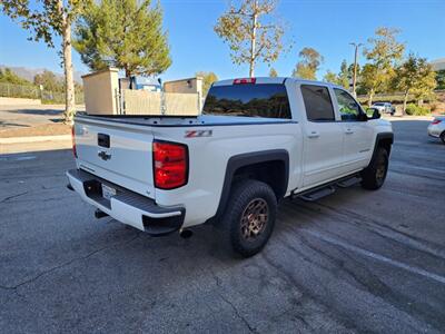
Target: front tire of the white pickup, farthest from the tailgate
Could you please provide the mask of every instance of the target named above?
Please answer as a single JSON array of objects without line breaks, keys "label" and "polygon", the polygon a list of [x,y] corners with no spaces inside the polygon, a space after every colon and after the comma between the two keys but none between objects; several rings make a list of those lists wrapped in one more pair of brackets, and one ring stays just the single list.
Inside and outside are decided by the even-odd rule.
[{"label": "front tire of the white pickup, farthest from the tailgate", "polygon": [[362,187],[376,190],[383,186],[388,173],[388,153],[385,148],[378,147],[369,166],[362,171]]}]

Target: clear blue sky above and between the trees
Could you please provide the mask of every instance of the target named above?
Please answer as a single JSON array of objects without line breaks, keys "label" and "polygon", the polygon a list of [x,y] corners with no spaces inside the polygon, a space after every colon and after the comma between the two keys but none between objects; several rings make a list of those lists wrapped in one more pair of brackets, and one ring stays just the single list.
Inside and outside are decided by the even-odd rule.
[{"label": "clear blue sky above and between the trees", "polygon": [[[233,65],[229,47],[214,32],[228,0],[160,2],[172,58],[171,67],[161,75],[164,80],[192,77],[197,71],[214,71],[220,79],[248,76],[248,66]],[[279,76],[291,75],[304,47],[315,48],[324,57],[319,79],[326,70],[337,72],[343,59],[354,60],[349,42],[366,42],[383,26],[402,30],[398,39],[406,42],[407,51],[428,60],[445,57],[445,0],[280,0],[276,17],[286,22],[286,38],[294,40],[290,51],[273,65]],[[0,14],[0,65],[62,72],[57,49],[28,41],[28,36]],[[76,51],[73,65],[77,71],[89,71]],[[260,63],[255,75],[268,72]]]}]

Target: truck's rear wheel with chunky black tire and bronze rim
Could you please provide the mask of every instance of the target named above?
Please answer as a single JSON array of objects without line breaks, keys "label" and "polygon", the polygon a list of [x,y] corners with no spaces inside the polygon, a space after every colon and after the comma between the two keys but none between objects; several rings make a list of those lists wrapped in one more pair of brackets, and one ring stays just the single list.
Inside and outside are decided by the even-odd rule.
[{"label": "truck's rear wheel with chunky black tire and bronze rim", "polygon": [[276,212],[277,198],[267,184],[237,183],[219,224],[226,246],[243,257],[260,252],[274,230]]}]

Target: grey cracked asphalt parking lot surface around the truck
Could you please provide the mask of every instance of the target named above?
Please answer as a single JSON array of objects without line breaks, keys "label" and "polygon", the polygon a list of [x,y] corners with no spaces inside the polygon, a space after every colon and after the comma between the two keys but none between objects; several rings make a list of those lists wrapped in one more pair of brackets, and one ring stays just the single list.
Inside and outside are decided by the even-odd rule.
[{"label": "grey cracked asphalt parking lot surface around the truck", "polygon": [[445,328],[445,145],[394,121],[384,187],[284,200],[259,255],[152,238],[66,189],[70,150],[0,155],[2,333]]}]

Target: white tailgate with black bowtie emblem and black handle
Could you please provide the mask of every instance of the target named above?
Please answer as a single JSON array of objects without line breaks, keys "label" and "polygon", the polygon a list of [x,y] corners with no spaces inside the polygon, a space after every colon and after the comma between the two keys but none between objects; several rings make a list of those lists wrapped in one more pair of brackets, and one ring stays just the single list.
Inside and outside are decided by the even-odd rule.
[{"label": "white tailgate with black bowtie emblem and black handle", "polygon": [[78,167],[155,198],[151,127],[77,119]]}]

